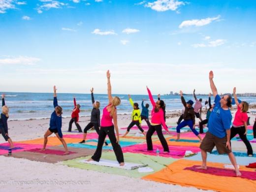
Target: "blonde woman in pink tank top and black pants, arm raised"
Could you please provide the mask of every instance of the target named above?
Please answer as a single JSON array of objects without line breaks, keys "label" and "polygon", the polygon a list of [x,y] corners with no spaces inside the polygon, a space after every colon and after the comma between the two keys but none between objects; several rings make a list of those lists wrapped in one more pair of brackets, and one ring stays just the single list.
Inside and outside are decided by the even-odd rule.
[{"label": "blonde woman in pink tank top and black pants, arm raised", "polygon": [[[120,105],[121,100],[118,96],[112,97],[109,70],[107,71],[107,93],[108,93],[109,104],[103,109],[103,115],[101,118],[101,127],[99,129],[99,135],[98,135],[97,149],[93,157],[88,161],[100,160],[102,146],[106,136],[108,135],[109,140],[112,144],[113,150],[115,152],[117,161],[120,163],[121,166],[123,166],[125,163],[124,163],[124,155],[122,152],[122,148],[119,145],[119,131],[117,126],[117,109],[116,109],[116,106]],[[114,129],[116,129],[117,135],[115,135]]]}]

